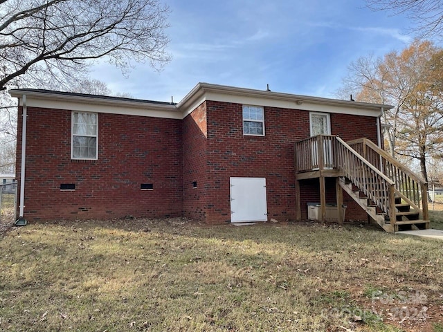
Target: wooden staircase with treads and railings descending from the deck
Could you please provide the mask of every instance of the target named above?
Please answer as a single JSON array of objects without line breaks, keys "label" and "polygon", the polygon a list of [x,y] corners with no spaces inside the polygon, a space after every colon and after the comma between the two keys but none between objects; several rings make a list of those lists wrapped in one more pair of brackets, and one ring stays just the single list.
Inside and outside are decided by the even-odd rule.
[{"label": "wooden staircase with treads and railings descending from the deck", "polygon": [[[316,136],[305,141],[306,144],[297,142],[295,148],[305,151],[302,154],[318,154],[318,158],[310,157],[319,160],[314,167],[324,172],[321,171],[324,163],[328,172],[334,169],[338,185],[383,230],[398,232],[430,227],[426,182],[372,141],[361,138],[344,142],[338,136]],[[302,172],[309,174],[306,161],[298,162],[302,154],[296,150],[296,169],[300,172],[304,168]]]}]

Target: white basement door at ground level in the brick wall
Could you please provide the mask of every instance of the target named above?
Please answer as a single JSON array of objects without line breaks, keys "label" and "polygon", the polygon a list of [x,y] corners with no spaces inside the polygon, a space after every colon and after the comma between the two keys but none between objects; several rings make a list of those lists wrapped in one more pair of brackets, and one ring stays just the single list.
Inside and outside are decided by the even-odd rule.
[{"label": "white basement door at ground level in the brick wall", "polygon": [[230,178],[230,222],[267,221],[266,178]]}]

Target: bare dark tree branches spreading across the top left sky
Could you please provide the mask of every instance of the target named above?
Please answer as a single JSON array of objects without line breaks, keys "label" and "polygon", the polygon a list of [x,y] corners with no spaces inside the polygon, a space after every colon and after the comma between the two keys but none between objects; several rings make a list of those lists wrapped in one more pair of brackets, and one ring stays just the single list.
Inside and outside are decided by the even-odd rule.
[{"label": "bare dark tree branches spreading across the top left sky", "polygon": [[38,86],[42,75],[62,84],[100,58],[123,73],[170,59],[159,0],[0,0],[0,14],[0,89]]}]

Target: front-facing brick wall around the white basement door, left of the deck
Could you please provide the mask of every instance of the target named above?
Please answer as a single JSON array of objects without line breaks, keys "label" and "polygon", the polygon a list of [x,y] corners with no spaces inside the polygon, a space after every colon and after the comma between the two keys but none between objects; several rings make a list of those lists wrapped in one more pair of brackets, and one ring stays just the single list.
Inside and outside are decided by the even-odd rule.
[{"label": "front-facing brick wall around the white basement door, left of the deck", "polygon": [[309,137],[309,113],[266,107],[264,137],[244,136],[242,104],[207,102],[207,221],[230,221],[229,178],[266,178],[268,218],[295,218],[293,142]]}]

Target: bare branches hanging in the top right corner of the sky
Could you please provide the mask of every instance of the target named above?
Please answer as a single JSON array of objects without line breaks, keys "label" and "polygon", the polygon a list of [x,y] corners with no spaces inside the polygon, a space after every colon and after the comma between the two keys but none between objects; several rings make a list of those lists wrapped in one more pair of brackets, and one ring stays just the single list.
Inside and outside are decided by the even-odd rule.
[{"label": "bare branches hanging in the top right corner of the sky", "polygon": [[372,10],[390,10],[406,14],[417,24],[421,37],[443,37],[443,3],[440,0],[366,0]]}]

